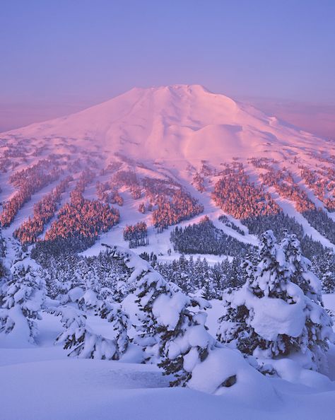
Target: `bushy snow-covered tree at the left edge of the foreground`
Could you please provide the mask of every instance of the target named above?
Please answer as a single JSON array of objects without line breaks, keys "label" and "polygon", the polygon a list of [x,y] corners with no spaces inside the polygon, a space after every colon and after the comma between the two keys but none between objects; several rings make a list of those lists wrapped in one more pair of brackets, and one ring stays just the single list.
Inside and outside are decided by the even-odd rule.
[{"label": "bushy snow-covered tree at the left edge of the foreground", "polygon": [[45,302],[45,281],[29,265],[17,264],[11,279],[2,287],[0,332],[18,334],[35,342],[40,311]]}]

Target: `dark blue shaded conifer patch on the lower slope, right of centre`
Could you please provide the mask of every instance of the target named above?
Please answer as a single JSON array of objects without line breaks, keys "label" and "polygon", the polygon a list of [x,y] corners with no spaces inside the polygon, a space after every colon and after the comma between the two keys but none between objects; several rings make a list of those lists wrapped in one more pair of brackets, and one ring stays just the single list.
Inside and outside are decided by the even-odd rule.
[{"label": "dark blue shaded conifer patch on the lower slope, right of centre", "polygon": [[241,256],[251,247],[216,228],[207,216],[185,228],[177,226],[170,240],[175,251],[185,254]]}]

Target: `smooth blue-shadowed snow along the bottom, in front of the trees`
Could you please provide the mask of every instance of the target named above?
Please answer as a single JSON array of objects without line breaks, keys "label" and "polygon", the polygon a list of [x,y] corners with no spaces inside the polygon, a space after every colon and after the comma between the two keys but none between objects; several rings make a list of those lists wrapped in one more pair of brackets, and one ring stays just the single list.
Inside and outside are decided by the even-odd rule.
[{"label": "smooth blue-shadowed snow along the bottom, in front of the trees", "polygon": [[[335,296],[327,303],[335,308]],[[67,358],[53,345],[60,324],[45,316],[39,326],[39,346],[3,348],[0,341],[2,419],[334,419],[335,385],[317,373],[290,371],[291,382],[259,374],[252,387],[246,375],[223,395],[208,395],[169,388],[153,365]],[[334,380],[335,349],[331,356]]]}]

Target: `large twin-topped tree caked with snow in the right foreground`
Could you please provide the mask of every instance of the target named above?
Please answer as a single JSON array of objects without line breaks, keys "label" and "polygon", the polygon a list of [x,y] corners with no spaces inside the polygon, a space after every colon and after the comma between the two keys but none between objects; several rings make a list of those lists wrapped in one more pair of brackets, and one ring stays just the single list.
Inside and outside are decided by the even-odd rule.
[{"label": "large twin-topped tree caked with snow in the right foreground", "polygon": [[319,370],[333,336],[332,321],[298,240],[286,235],[278,244],[267,231],[258,259],[246,268],[246,284],[225,296],[219,341],[259,358],[298,354],[305,367]]}]

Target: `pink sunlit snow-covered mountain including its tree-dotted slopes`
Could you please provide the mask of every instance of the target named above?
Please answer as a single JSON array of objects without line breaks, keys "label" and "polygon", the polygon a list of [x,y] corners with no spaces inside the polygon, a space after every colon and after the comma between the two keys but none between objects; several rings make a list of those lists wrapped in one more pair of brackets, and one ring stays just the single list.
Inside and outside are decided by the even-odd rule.
[{"label": "pink sunlit snow-covered mountain including its tree-dotted slopes", "polygon": [[[59,203],[69,202],[69,192],[89,169],[84,197],[114,204],[119,225],[107,236],[121,245],[120,227],[145,221],[151,235],[154,227],[197,222],[204,215],[226,234],[254,244],[259,231],[249,219],[283,211],[303,234],[335,248],[335,142],[199,85],[134,88],[73,115],[2,133],[0,151],[1,224],[9,237],[59,180],[55,209],[37,232],[43,238]],[[179,207],[173,200],[168,204],[176,189],[182,191],[175,197]],[[230,222],[218,221],[223,213]],[[249,231],[231,228],[233,219]],[[170,247],[170,231],[164,232],[154,251]]]}]

